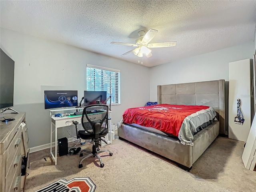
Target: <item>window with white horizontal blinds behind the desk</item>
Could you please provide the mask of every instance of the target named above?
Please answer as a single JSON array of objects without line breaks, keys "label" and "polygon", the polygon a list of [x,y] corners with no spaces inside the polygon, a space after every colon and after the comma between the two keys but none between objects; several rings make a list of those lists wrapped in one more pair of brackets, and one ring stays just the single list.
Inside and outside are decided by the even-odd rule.
[{"label": "window with white horizontal blinds behind the desk", "polygon": [[86,81],[88,91],[106,91],[111,104],[120,104],[120,70],[87,65]]}]

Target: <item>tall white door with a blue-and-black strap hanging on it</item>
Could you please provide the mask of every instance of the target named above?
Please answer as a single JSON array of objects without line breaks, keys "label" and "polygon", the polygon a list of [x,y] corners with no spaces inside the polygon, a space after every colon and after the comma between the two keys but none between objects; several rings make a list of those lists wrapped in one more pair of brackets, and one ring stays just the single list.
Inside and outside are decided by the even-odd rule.
[{"label": "tall white door with a blue-and-black strap hanging on it", "polygon": [[228,137],[244,142],[251,127],[250,84],[250,59],[230,62]]}]

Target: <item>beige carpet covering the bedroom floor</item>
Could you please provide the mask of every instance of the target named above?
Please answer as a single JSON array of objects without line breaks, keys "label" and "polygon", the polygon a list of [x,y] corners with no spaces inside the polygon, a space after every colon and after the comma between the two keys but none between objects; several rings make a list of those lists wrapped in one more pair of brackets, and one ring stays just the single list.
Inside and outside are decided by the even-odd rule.
[{"label": "beige carpet covering the bedroom floor", "polygon": [[84,160],[84,167],[79,169],[78,155],[58,157],[58,164],[54,166],[49,150],[30,154],[25,191],[34,192],[60,178],[70,180],[83,176],[92,179],[96,192],[256,191],[256,171],[245,169],[242,163],[244,142],[218,137],[190,172],[125,141],[115,139],[106,148],[113,156],[108,152],[100,154],[104,168],[100,168],[99,161],[93,157]]}]

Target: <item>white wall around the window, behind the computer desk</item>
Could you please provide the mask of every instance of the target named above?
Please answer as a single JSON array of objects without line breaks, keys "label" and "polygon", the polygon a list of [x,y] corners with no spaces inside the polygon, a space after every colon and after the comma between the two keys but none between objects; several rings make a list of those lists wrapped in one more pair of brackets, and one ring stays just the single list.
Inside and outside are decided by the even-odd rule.
[{"label": "white wall around the window, behind the computer desk", "polygon": [[[143,106],[150,99],[149,68],[145,66],[3,28],[0,32],[1,48],[15,61],[14,109],[26,112],[29,147],[50,143],[44,90],[78,90],[80,101],[86,90],[86,64],[120,70],[121,105],[111,106],[112,123],[120,122],[126,108]],[[61,138],[62,129],[59,132]]]}]

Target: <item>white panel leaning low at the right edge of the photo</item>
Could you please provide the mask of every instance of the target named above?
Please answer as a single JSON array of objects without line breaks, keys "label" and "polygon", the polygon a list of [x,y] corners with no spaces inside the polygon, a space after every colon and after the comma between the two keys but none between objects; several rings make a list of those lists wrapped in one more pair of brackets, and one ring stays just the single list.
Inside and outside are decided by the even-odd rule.
[{"label": "white panel leaning low at the right edge of the photo", "polygon": [[253,171],[256,164],[256,115],[254,116],[252,127],[244,147],[242,160],[246,169]]}]

